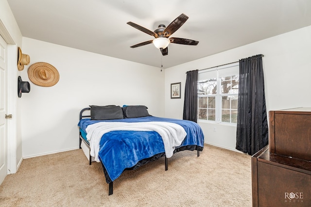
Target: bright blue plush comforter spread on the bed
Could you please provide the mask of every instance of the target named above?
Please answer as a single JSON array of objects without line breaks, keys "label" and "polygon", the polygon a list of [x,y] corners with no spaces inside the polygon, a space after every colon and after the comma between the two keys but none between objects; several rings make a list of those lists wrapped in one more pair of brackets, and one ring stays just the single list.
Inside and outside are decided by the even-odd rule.
[{"label": "bright blue plush comforter spread on the bed", "polygon": [[[81,119],[78,126],[82,135],[86,127],[97,122],[171,122],[182,126],[187,136],[180,147],[197,145],[204,147],[204,134],[201,127],[192,121],[147,116],[115,120]],[[117,179],[122,172],[135,166],[142,159],[164,153],[161,136],[155,131],[111,131],[105,133],[100,141],[99,158],[111,181]]]}]

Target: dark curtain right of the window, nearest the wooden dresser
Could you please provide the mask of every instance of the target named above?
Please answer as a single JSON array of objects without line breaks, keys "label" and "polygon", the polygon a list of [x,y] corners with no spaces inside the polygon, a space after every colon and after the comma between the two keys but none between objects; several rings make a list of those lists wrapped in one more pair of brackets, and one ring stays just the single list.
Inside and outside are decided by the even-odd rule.
[{"label": "dark curtain right of the window, nearest the wooden dresser", "polygon": [[268,144],[262,55],[239,61],[236,149],[254,155]]}]

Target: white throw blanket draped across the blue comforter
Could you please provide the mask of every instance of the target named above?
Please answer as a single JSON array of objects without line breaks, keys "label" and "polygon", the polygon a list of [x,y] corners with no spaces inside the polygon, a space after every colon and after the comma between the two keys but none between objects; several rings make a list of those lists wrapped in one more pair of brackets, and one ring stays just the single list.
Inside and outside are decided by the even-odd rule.
[{"label": "white throw blanket draped across the blue comforter", "polygon": [[187,133],[183,127],[170,122],[98,122],[86,127],[86,138],[90,146],[90,154],[95,161],[98,158],[99,143],[102,136],[109,131],[156,131],[162,137],[165,156],[170,158],[176,146],[179,146],[185,139]]}]

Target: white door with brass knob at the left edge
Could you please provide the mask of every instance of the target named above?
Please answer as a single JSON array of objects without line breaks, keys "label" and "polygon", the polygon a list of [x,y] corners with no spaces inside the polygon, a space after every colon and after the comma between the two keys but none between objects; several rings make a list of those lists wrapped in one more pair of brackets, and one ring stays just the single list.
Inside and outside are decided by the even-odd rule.
[{"label": "white door with brass knob at the left edge", "polygon": [[7,175],[7,44],[0,35],[0,184]]}]

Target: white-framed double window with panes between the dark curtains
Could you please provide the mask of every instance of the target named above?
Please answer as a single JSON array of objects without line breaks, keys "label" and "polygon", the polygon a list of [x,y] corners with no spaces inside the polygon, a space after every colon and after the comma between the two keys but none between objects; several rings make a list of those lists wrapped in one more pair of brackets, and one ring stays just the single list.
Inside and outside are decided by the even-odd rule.
[{"label": "white-framed double window with panes between the dark curtains", "polygon": [[198,120],[236,124],[238,93],[238,63],[199,72]]}]

